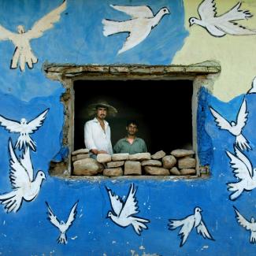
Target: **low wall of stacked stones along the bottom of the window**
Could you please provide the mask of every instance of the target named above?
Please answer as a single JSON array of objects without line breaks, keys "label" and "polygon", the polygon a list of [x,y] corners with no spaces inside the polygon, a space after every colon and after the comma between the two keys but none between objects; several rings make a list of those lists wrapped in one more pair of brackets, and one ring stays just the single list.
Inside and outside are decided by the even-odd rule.
[{"label": "low wall of stacked stones along the bottom of the window", "polygon": [[72,152],[75,175],[125,176],[184,176],[195,175],[196,161],[193,150],[173,150],[166,155],[163,150],[155,154],[98,154],[97,161],[89,158],[88,150]]}]

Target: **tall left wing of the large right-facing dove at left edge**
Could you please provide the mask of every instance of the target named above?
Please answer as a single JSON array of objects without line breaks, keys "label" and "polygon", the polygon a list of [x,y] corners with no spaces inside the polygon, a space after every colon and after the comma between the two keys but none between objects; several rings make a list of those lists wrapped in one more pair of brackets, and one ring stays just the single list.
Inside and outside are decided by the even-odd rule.
[{"label": "tall left wing of the large right-facing dove at left edge", "polygon": [[13,151],[11,139],[9,139],[9,165],[9,180],[11,181],[13,188],[27,187],[28,184],[32,182],[28,175],[28,171],[20,164],[15,152]]}]

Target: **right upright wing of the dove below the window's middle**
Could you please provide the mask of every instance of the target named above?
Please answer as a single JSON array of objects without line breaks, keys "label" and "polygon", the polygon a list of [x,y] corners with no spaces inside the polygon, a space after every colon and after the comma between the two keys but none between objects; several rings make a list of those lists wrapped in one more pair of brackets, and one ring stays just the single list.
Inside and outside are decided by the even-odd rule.
[{"label": "right upright wing of the dove below the window's middle", "polygon": [[132,216],[135,213],[139,213],[137,201],[135,198],[136,189],[134,188],[134,185],[131,184],[130,191],[128,198],[126,199],[124,203],[124,207],[120,213],[120,217],[129,217]]}]

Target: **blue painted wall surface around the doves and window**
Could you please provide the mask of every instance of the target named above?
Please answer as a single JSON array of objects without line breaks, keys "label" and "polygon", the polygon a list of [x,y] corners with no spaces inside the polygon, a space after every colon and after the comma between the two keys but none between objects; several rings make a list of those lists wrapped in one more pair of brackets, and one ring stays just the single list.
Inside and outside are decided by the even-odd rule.
[{"label": "blue painted wall surface around the doves and window", "polygon": [[[18,24],[31,28],[36,20],[61,4],[61,1],[2,0],[0,2],[0,24],[15,31]],[[128,19],[123,13],[112,9],[116,5],[148,5],[154,13],[163,6],[171,10],[163,17],[150,35],[124,54],[117,55],[126,35],[102,35],[102,18]],[[42,65],[50,63],[73,64],[149,64],[168,65],[174,54],[184,44],[188,32],[184,29],[183,1],[86,1],[68,0],[67,9],[54,28],[43,37],[31,41],[39,62],[34,69],[25,72],[9,69],[14,46],[9,41],[0,42],[0,114],[20,121],[25,117],[32,120],[49,108],[44,124],[32,135],[37,145],[31,152],[35,171],[46,173],[39,196],[33,202],[23,202],[17,213],[5,213],[0,209],[0,253],[2,255],[254,255],[254,245],[249,243],[250,233],[236,222],[232,206],[247,219],[256,216],[255,191],[243,192],[236,202],[229,200],[227,182],[236,180],[229,166],[225,150],[233,152],[234,137],[219,130],[207,106],[217,109],[229,121],[236,119],[243,96],[224,103],[202,89],[199,97],[198,121],[203,140],[198,152],[203,163],[210,165],[211,176],[207,180],[127,180],[87,181],[63,180],[47,173],[50,160],[58,154],[62,142],[64,121],[63,106],[59,100],[64,92],[60,83],[46,79]],[[254,127],[256,119],[255,95],[246,95],[248,122],[243,130],[253,150],[246,152],[252,164],[256,164]],[[202,132],[202,133],[201,133]],[[9,137],[17,141],[17,134],[0,127],[0,192],[11,191],[9,183]],[[200,144],[201,143],[201,144]],[[19,150],[16,151],[19,154]],[[113,224],[106,215],[111,206],[106,187],[117,195],[128,195],[130,185],[138,187],[136,198],[139,217],[150,220],[148,229],[137,236],[132,227],[121,228]],[[65,221],[69,210],[78,202],[77,217],[67,232],[67,245],[58,244],[57,228],[46,219],[48,202],[60,220]],[[179,247],[178,230],[169,231],[169,219],[182,219],[192,214],[199,206],[210,234],[215,241],[203,239],[191,232]]]}]

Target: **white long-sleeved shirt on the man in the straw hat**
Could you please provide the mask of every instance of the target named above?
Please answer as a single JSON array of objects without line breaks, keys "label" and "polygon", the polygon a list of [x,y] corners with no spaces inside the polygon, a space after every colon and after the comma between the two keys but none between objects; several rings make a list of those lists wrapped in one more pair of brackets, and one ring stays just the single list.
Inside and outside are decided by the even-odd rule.
[{"label": "white long-sleeved shirt on the man in the straw hat", "polygon": [[110,139],[109,123],[104,120],[105,131],[103,131],[99,121],[95,119],[87,121],[84,125],[84,143],[88,150],[105,150],[108,154],[113,154]]}]

